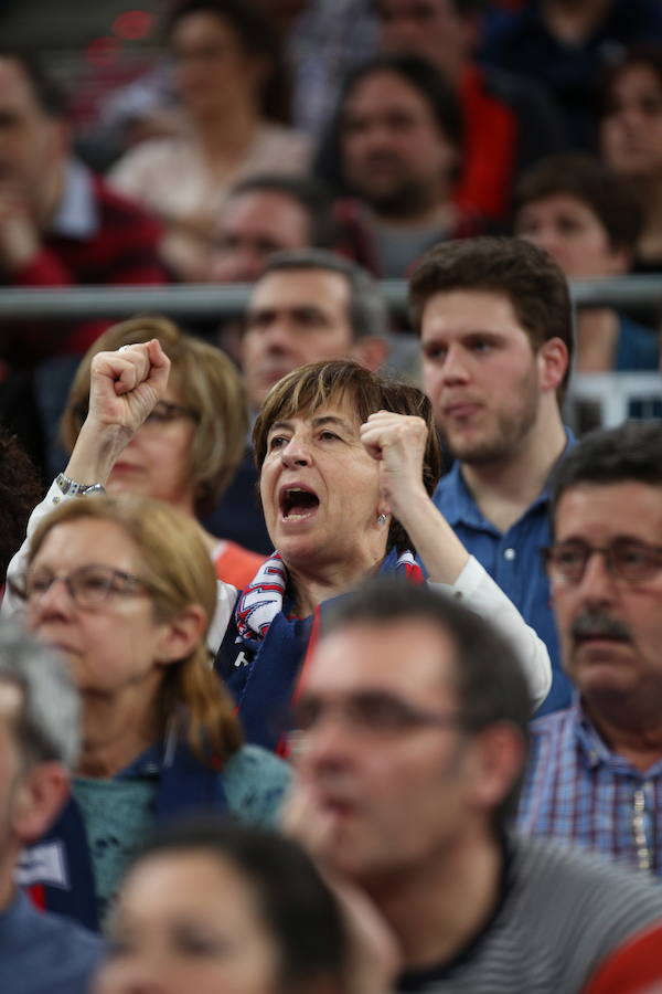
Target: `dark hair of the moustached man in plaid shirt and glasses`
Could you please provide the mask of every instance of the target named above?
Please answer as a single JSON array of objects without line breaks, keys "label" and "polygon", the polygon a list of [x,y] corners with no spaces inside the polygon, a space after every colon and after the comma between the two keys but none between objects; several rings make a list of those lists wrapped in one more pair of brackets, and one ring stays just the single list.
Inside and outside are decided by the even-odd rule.
[{"label": "dark hair of the moustached man in plaid shirt and glasses", "polygon": [[662,422],[627,421],[584,435],[549,477],[552,522],[566,490],[583,484],[609,486],[630,480],[662,487]]}]

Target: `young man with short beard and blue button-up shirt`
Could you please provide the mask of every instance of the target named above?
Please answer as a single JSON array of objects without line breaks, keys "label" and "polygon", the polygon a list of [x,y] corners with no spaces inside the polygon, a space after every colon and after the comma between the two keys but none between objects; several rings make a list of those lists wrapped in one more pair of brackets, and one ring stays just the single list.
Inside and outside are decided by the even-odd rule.
[{"label": "young man with short beard and blue button-up shirt", "polygon": [[549,541],[546,480],[568,445],[559,402],[573,348],[566,279],[516,239],[467,239],[424,257],[410,284],[424,388],[455,456],[435,503],[467,549],[546,643],[553,685],[570,686],[540,549]]}]

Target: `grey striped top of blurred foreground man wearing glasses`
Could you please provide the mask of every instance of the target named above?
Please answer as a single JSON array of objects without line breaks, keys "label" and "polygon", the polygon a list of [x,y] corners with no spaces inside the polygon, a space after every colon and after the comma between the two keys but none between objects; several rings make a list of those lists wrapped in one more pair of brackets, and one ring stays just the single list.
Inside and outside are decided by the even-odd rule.
[{"label": "grey striped top of blurred foreground man wearing glasses", "polygon": [[502,905],[451,963],[406,973],[425,994],[575,994],[624,940],[662,921],[662,890],[596,856],[513,843]]}]

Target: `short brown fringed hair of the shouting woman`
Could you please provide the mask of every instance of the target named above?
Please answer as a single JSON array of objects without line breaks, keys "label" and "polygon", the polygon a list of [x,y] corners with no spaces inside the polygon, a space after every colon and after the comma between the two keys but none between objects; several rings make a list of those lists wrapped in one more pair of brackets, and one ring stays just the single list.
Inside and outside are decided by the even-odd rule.
[{"label": "short brown fringed hair of the shouting woman", "polygon": [[[257,468],[261,470],[267,454],[267,438],[276,421],[297,414],[313,413],[334,402],[349,400],[361,423],[376,411],[393,411],[423,417],[427,425],[427,443],[423,464],[423,483],[431,494],[441,474],[441,448],[433,406],[416,387],[387,380],[352,359],[310,362],[295,369],[271,387],[253,429],[253,447]],[[391,522],[387,548],[404,552],[410,548],[409,537],[399,521]]]}]

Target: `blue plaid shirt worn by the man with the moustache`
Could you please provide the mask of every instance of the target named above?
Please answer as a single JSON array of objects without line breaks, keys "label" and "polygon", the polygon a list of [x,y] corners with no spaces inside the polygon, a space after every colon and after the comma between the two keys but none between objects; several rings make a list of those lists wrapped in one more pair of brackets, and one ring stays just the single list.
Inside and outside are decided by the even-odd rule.
[{"label": "blue plaid shirt worn by the man with the moustache", "polygon": [[645,773],[608,748],[581,709],[531,726],[532,755],[517,828],[662,875],[662,759]]}]

